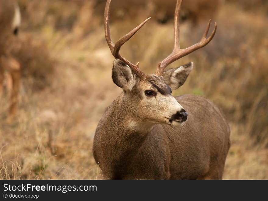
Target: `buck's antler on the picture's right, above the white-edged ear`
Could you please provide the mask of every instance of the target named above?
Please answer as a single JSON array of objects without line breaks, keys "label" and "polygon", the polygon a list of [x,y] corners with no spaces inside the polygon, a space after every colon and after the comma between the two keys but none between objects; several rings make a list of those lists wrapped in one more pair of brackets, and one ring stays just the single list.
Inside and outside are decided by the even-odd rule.
[{"label": "buck's antler on the picture's right, above the white-edged ear", "polygon": [[171,63],[173,63],[174,61],[178,60],[179,58],[182,58],[190,53],[192,53],[195,50],[198,50],[201,47],[204,47],[205,45],[207,45],[213,38],[213,36],[216,33],[216,29],[217,29],[217,23],[215,23],[215,28],[212,32],[212,34],[206,38],[209,27],[210,27],[210,21],[206,27],[206,31],[204,33],[204,35],[202,36],[201,40],[190,46],[187,47],[185,49],[181,49],[180,48],[180,39],[179,39],[179,34],[180,34],[180,22],[179,22],[179,16],[180,16],[180,9],[181,9],[181,4],[182,4],[182,0],[178,0],[177,1],[177,5],[176,5],[176,9],[175,9],[175,18],[174,18],[174,49],[173,52],[167,57],[165,58],[163,61],[161,61],[158,64],[157,70],[156,70],[156,75],[162,75],[163,74],[163,70]]}]

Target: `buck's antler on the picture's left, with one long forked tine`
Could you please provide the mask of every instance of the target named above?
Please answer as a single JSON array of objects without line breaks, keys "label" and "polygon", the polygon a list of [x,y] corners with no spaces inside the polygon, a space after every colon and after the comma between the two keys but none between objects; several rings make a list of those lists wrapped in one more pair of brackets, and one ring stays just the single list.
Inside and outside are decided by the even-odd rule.
[{"label": "buck's antler on the picture's left, with one long forked tine", "polygon": [[130,31],[129,33],[127,33],[125,36],[123,36],[122,38],[120,38],[118,41],[116,41],[116,43],[114,44],[112,39],[111,39],[111,34],[110,34],[110,3],[111,0],[108,0],[106,2],[106,6],[105,6],[105,11],[104,11],[104,29],[105,29],[105,38],[107,40],[108,46],[112,52],[112,54],[114,55],[114,57],[116,59],[120,59],[121,61],[123,61],[125,64],[127,64],[132,71],[141,79],[144,80],[147,75],[141,71],[139,69],[139,62],[134,65],[132,64],[130,61],[126,60],[124,57],[122,57],[119,54],[119,50],[121,48],[121,46],[127,42],[149,19],[146,19],[143,23],[141,23],[139,26],[137,26],[135,29],[133,29],[132,31]]}]

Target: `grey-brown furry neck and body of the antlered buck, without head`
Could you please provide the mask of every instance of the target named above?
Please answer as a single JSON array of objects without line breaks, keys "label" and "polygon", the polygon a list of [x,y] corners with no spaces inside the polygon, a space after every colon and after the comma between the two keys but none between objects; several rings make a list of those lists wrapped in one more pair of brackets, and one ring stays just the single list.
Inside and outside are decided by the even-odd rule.
[{"label": "grey-brown furry neck and body of the antlered buck, without head", "polygon": [[[221,179],[230,147],[230,129],[209,100],[183,95],[176,100],[188,112],[181,126],[145,123],[137,84],[122,93],[100,120],[93,156],[105,179]],[[153,109],[153,108],[152,108]],[[140,122],[132,130],[129,120]]]}]

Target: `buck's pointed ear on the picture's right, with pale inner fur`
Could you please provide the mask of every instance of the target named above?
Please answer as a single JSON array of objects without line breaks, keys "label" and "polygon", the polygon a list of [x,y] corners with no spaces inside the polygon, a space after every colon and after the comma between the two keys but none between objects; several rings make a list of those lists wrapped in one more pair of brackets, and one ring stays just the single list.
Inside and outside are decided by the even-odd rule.
[{"label": "buck's pointed ear on the picture's right, with pale inner fur", "polygon": [[171,68],[163,72],[163,77],[172,90],[175,90],[184,84],[188,75],[192,71],[193,65],[193,62],[190,62],[183,66],[179,66],[178,68]]}]

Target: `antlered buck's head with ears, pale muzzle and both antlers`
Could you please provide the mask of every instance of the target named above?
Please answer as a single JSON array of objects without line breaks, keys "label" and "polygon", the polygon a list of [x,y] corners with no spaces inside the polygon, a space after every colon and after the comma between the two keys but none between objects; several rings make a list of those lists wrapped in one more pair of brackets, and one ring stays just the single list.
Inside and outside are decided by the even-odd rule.
[{"label": "antlered buck's head with ears, pale muzzle and both antlers", "polygon": [[188,114],[171,95],[171,90],[175,90],[184,84],[193,68],[193,63],[190,62],[167,71],[164,71],[164,69],[179,58],[207,45],[216,32],[216,23],[213,33],[208,38],[206,36],[210,21],[198,43],[181,49],[179,43],[179,14],[182,0],[178,0],[175,9],[174,49],[167,58],[159,63],[156,74],[147,75],[140,70],[139,62],[136,65],[132,64],[120,55],[119,50],[150,18],[114,44],[109,28],[110,3],[111,0],[108,0],[104,12],[105,37],[111,53],[116,59],[113,64],[112,78],[114,83],[123,89],[122,104],[128,105],[132,115],[136,116],[139,121],[180,125],[187,120]]}]

